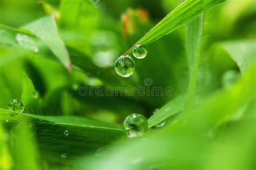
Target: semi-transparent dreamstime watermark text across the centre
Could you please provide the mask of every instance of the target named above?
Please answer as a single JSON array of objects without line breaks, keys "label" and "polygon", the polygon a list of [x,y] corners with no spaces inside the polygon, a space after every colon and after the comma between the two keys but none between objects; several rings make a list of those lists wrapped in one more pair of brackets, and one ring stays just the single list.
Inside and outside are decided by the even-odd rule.
[{"label": "semi-transparent dreamstime watermark text across the centre", "polygon": [[88,87],[87,84],[84,87],[80,87],[78,93],[80,96],[93,96],[95,94],[98,97],[114,97],[114,96],[134,96],[137,94],[138,96],[147,96],[147,97],[163,97],[163,96],[172,96],[172,87],[156,87],[153,85],[153,80],[147,78],[144,80],[145,86],[135,86],[131,87],[131,89],[127,89],[127,87]]}]

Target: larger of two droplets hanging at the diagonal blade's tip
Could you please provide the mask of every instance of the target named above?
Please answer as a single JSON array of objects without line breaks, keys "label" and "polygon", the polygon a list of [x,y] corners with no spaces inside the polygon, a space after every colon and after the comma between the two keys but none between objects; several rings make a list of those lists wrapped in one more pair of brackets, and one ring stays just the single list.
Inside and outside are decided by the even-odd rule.
[{"label": "larger of two droplets hanging at the diagonal blade's tip", "polygon": [[129,77],[135,70],[135,63],[130,56],[121,56],[116,60],[114,70],[116,70],[117,74],[121,77]]}]

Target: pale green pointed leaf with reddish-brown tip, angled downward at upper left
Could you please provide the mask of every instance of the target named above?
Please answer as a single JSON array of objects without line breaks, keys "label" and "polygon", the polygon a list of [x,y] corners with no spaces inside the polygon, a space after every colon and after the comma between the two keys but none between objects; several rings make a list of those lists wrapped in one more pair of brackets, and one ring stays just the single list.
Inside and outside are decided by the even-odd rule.
[{"label": "pale green pointed leaf with reddish-brown tip, angled downward at upper left", "polygon": [[68,50],[63,40],[59,37],[55,19],[52,16],[40,18],[35,22],[25,25],[24,28],[42,39],[60,62],[68,68],[68,70],[71,70]]}]

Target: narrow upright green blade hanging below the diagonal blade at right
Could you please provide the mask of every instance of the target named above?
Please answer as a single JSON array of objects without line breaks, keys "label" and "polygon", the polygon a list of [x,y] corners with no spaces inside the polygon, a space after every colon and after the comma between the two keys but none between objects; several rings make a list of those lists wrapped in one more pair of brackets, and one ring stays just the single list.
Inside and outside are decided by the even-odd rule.
[{"label": "narrow upright green blade hanging below the diagonal blade at right", "polygon": [[187,25],[186,54],[188,67],[190,68],[190,82],[185,101],[185,112],[194,104],[197,87],[197,77],[200,63],[200,42],[203,34],[204,15],[194,19]]}]

